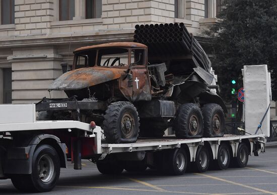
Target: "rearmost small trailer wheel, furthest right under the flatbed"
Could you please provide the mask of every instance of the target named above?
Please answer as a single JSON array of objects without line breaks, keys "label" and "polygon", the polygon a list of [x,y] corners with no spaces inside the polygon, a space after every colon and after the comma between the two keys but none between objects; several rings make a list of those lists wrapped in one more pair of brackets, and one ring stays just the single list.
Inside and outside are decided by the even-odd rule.
[{"label": "rearmost small trailer wheel, furthest right under the flatbed", "polygon": [[237,157],[233,158],[233,165],[238,168],[245,167],[248,163],[249,151],[245,143],[240,143],[238,147]]}]

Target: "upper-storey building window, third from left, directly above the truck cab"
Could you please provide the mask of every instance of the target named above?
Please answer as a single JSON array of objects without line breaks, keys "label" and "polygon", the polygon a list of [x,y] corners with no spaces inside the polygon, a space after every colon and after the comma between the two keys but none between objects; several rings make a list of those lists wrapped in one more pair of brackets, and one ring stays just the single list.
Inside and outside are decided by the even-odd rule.
[{"label": "upper-storey building window, third from left, directly above the truck cab", "polygon": [[101,18],[102,0],[86,0],[86,19]]}]

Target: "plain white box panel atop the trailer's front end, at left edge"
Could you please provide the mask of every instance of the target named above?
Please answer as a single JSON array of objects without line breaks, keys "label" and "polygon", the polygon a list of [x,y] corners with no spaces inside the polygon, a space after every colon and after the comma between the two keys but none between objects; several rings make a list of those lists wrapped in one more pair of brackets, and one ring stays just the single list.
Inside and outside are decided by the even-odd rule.
[{"label": "plain white box panel atop the trailer's front end, at left edge", "polygon": [[32,123],[35,122],[34,104],[0,105],[0,124],[2,123]]}]

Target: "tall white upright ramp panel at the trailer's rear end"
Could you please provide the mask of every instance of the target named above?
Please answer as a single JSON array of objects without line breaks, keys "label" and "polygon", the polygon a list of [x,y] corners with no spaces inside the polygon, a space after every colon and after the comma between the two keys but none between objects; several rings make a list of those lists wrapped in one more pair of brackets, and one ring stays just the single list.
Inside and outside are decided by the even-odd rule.
[{"label": "tall white upright ramp panel at the trailer's rear end", "polygon": [[[270,78],[267,65],[244,66],[245,129],[254,134],[270,103]],[[269,137],[270,116],[265,116],[261,130]],[[261,133],[260,131],[258,133]]]}]

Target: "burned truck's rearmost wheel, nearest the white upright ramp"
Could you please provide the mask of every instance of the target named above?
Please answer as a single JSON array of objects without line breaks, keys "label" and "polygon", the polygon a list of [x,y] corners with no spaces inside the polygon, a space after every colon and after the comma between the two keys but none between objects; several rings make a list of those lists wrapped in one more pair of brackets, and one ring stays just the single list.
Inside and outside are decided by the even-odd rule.
[{"label": "burned truck's rearmost wheel, nearest the white upright ramp", "polygon": [[204,136],[222,137],[225,131],[224,112],[218,104],[206,104],[202,108]]}]

